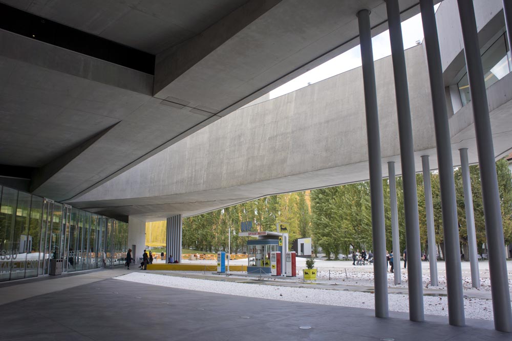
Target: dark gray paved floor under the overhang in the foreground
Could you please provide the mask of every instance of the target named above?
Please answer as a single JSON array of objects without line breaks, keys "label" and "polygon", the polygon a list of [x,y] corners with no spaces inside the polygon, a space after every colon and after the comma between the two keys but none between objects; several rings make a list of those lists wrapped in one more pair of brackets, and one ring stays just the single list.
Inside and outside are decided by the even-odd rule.
[{"label": "dark gray paved floor under the overhang in the foreground", "polygon": [[[0,288],[53,291],[27,294],[0,305],[2,340],[510,340],[493,323],[467,320],[466,327],[407,313],[376,319],[373,310],[244,298],[111,279],[124,269],[93,272]],[[83,276],[83,277],[82,277]],[[102,277],[102,278],[101,278]],[[105,279],[106,278],[106,279]],[[61,290],[58,282],[66,282]],[[88,282],[89,283],[84,283]],[[25,287],[24,287],[25,285]],[[36,292],[32,292],[36,294]],[[249,317],[248,319],[245,317]],[[311,326],[311,329],[299,329]]]}]

